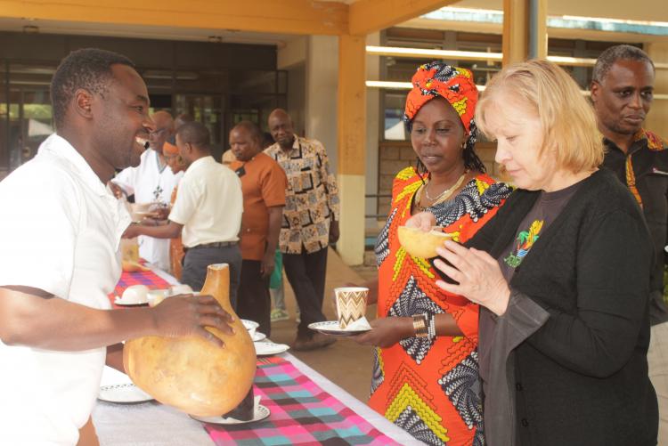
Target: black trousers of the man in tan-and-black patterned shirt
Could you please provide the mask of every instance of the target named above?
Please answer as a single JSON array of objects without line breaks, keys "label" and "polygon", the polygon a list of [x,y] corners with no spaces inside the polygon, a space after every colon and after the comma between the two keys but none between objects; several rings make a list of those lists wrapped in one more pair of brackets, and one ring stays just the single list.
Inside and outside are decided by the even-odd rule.
[{"label": "black trousers of the man in tan-and-black patterned shirt", "polygon": [[306,253],[304,248],[301,254],[283,254],[283,267],[299,306],[301,321],[297,326],[297,337],[311,337],[314,331],[308,328],[308,324],[325,320],[322,298],[325,293],[327,247],[312,254]]}]

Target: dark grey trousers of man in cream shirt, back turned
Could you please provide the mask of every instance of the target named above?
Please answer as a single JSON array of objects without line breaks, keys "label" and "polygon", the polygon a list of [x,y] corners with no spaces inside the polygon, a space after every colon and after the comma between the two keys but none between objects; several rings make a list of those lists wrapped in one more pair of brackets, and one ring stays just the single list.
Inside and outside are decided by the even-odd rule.
[{"label": "dark grey trousers of man in cream shirt, back turned", "polygon": [[207,279],[210,264],[230,265],[230,304],[236,309],[237,288],[241,276],[241,251],[239,245],[232,247],[199,247],[188,249],[183,258],[181,281],[190,285],[194,291],[200,291]]}]

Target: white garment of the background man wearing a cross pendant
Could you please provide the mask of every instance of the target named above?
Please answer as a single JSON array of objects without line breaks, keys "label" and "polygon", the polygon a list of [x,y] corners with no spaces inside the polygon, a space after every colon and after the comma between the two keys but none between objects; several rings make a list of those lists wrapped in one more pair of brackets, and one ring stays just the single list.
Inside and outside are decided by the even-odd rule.
[{"label": "white garment of the background man wearing a cross pendant", "polygon": [[[174,174],[169,166],[160,167],[158,152],[144,150],[139,166],[127,167],[114,178],[128,195],[134,194],[137,203],[166,203],[181,180],[183,172]],[[139,236],[139,255],[161,270],[169,270],[169,240]]]}]

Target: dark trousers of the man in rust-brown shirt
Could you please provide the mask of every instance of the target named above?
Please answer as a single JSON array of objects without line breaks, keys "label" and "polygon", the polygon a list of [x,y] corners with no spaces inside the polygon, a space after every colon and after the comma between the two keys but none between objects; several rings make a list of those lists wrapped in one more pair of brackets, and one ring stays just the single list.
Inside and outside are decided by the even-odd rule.
[{"label": "dark trousers of the man in rust-brown shirt", "polygon": [[269,296],[269,278],[262,279],[259,260],[241,263],[241,281],[237,293],[237,315],[241,319],[255,320],[257,331],[268,337],[272,331],[272,299]]}]

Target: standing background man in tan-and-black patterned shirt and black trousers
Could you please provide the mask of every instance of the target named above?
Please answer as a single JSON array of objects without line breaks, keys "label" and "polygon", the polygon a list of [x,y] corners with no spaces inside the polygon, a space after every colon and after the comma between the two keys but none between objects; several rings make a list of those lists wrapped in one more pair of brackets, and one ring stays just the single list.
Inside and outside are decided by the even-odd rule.
[{"label": "standing background man in tan-and-black patterned shirt and black trousers", "polygon": [[322,143],[297,136],[285,110],[275,109],[269,115],[269,131],[275,143],[265,153],[288,176],[279,248],[301,315],[294,348],[314,350],[334,342],[308,324],[325,320],[327,248],[338,240],[337,183]]}]

